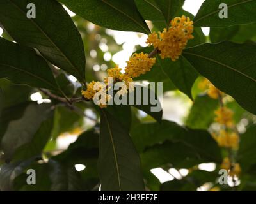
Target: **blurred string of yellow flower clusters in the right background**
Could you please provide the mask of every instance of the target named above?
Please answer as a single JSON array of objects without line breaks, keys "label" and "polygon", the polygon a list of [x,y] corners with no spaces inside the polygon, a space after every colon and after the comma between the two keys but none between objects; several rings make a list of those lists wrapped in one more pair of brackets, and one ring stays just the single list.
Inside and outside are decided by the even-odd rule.
[{"label": "blurred string of yellow flower clusters in the right background", "polygon": [[220,168],[228,171],[228,174],[232,177],[234,175],[239,176],[241,173],[241,168],[239,163],[234,161],[232,158],[231,151],[236,151],[239,148],[239,135],[236,131],[236,124],[234,124],[234,113],[232,110],[227,108],[223,103],[223,97],[225,94],[218,90],[209,80],[204,78],[199,84],[199,89],[206,90],[207,95],[212,99],[219,99],[221,102],[220,107],[214,111],[215,118],[214,121],[220,124],[221,129],[218,133],[212,133],[212,137],[216,140],[220,147],[226,148],[228,150],[229,157],[225,157]]}]

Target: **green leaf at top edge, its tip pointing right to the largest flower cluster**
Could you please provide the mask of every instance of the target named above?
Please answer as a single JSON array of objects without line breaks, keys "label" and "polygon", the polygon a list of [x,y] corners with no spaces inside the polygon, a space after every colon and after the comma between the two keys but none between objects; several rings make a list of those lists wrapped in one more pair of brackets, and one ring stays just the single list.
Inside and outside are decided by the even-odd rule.
[{"label": "green leaf at top edge, its tip pointing right to the largest flower cluster", "polygon": [[93,24],[113,30],[150,33],[133,0],[60,1],[71,11]]}]

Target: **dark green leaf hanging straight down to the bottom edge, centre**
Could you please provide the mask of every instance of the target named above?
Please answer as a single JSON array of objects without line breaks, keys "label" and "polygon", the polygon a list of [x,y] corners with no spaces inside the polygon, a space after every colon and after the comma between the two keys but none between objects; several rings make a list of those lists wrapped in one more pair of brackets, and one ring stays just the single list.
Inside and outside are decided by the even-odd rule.
[{"label": "dark green leaf hanging straight down to the bottom edge, centre", "polygon": [[129,134],[108,112],[102,111],[99,142],[102,191],[143,191],[140,157]]}]

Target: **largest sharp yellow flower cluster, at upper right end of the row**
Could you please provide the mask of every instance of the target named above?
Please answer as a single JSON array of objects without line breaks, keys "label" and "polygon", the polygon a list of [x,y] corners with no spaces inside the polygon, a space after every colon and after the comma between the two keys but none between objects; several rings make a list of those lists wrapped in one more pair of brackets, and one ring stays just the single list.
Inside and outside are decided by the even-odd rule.
[{"label": "largest sharp yellow flower cluster, at upper right end of the row", "polygon": [[147,43],[158,48],[162,59],[169,57],[172,61],[176,61],[188,40],[194,38],[193,21],[182,15],[182,17],[175,17],[170,24],[168,29],[164,29],[162,33],[159,32],[159,38],[156,33],[149,34]]}]

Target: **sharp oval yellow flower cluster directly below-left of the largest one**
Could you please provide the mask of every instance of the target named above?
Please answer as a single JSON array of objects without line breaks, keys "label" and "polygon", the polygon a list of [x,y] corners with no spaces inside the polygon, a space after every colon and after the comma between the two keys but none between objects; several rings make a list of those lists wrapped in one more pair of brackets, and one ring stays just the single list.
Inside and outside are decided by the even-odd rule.
[{"label": "sharp oval yellow flower cluster directly below-left of the largest one", "polygon": [[127,61],[125,74],[129,77],[136,78],[140,75],[150,71],[152,66],[156,63],[156,58],[148,57],[148,54],[141,52],[140,54],[134,53]]}]

